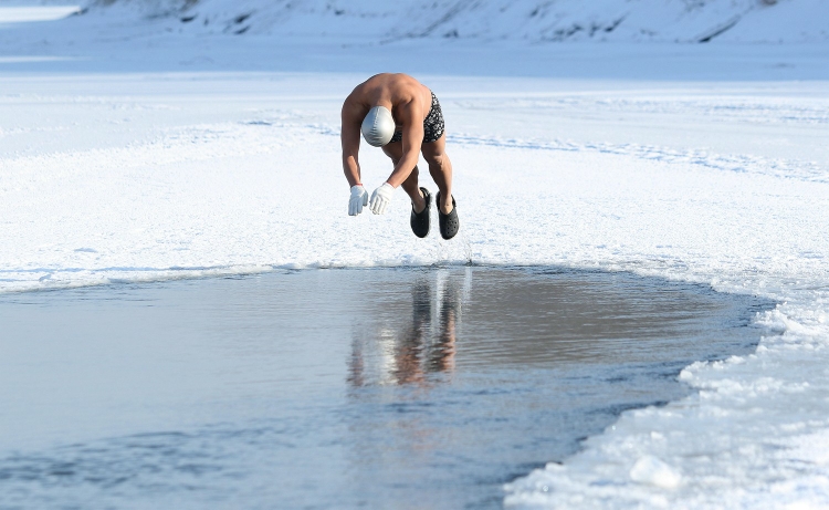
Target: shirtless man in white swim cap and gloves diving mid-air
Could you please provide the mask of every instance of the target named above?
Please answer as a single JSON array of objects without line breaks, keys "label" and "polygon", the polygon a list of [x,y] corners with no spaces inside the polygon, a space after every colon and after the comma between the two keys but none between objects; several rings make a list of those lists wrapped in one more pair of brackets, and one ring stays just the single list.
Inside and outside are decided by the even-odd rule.
[{"label": "shirtless man in white swim cap and gloves diving mid-air", "polygon": [[423,238],[429,233],[432,197],[418,186],[418,158],[429,164],[438,185],[438,220],[443,239],[458,233],[460,222],[452,197],[452,164],[447,156],[443,113],[434,94],[406,74],[377,74],[357,85],[343,103],[343,170],[351,186],[348,214],[357,216],[369,204],[360,181],[357,158],[360,133],[369,145],[382,147],[395,169],[371,194],[371,212],[382,215],[395,189],[402,186],[411,199],[411,229]]}]

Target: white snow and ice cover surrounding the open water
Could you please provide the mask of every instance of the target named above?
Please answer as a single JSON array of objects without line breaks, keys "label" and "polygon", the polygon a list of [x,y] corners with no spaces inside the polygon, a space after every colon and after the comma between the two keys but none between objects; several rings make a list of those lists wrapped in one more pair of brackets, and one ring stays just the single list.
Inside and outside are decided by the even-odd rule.
[{"label": "white snow and ice cover surrounding the open water", "polygon": [[[686,367],[681,379],[697,394],[622,414],[563,465],[507,486],[505,502],[829,506],[829,52],[814,42],[829,18],[807,0],[702,3],[700,17],[739,8],[741,21],[697,45],[531,44],[521,39],[537,41],[538,27],[516,32],[507,21],[479,40],[436,30],[376,44],[333,31],[286,38],[313,17],[322,21],[307,33],[335,27],[314,2],[300,4],[306,18],[262,8],[256,15],[274,18],[244,37],[178,14],[136,23],[135,4],[116,4],[0,30],[0,291],[471,261],[623,270],[767,296],[780,304],[757,316],[766,334],[756,353]],[[191,11],[244,7],[228,6]],[[378,37],[409,12],[388,9]],[[653,39],[713,27],[695,23]],[[769,41],[812,42],[722,43],[770,23]],[[505,31],[516,40],[483,40]],[[400,191],[386,216],[346,215],[339,106],[381,70],[410,72],[441,100],[455,240],[414,238]],[[379,186],[385,157],[364,147],[360,158],[364,183]]]}]

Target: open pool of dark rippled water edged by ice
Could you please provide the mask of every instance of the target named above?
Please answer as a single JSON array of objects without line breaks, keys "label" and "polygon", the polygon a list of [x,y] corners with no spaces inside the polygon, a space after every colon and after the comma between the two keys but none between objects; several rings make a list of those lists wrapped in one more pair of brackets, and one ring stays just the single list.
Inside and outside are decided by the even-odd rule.
[{"label": "open pool of dark rippled water edged by ice", "polygon": [[546,268],[0,296],[0,507],[497,508],[772,305]]}]

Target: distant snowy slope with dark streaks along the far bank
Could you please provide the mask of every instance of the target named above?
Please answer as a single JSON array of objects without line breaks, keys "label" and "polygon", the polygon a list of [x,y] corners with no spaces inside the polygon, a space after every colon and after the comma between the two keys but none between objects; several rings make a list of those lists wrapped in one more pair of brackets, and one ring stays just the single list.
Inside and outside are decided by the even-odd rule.
[{"label": "distant snowy slope with dark streaks along the far bank", "polygon": [[829,41],[827,0],[94,0],[187,31],[388,40]]}]

